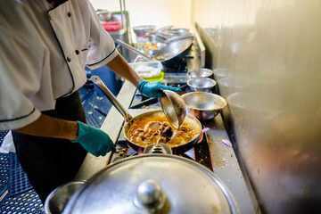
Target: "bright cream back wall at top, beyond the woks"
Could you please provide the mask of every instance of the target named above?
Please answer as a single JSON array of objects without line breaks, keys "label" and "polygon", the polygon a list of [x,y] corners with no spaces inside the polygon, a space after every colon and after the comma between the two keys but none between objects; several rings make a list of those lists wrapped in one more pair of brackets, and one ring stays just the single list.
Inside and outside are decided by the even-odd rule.
[{"label": "bright cream back wall at top, beyond the woks", "polygon": [[[120,11],[119,0],[89,0],[95,9]],[[161,28],[174,25],[175,28],[191,27],[192,0],[126,0],[131,27],[156,25]]]}]

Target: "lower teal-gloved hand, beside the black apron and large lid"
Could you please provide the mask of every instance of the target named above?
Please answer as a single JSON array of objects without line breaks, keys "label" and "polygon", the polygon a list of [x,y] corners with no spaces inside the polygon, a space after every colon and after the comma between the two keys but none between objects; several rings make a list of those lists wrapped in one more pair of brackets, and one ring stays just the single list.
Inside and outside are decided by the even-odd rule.
[{"label": "lower teal-gloved hand, beside the black apron and large lid", "polygon": [[82,122],[78,122],[78,137],[72,143],[79,143],[87,152],[92,153],[96,157],[104,156],[107,152],[116,152],[115,144],[111,138],[98,128],[88,126]]}]

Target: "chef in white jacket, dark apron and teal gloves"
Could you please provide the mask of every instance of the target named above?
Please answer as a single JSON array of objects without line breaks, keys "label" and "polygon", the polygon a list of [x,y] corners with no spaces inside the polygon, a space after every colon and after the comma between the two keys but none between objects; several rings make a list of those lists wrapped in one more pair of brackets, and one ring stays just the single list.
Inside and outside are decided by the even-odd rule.
[{"label": "chef in white jacket, dark apron and teal gloves", "polygon": [[179,89],[140,78],[88,0],[0,1],[0,130],[12,129],[22,169],[45,202],[76,176],[86,152],[115,150],[107,134],[86,125],[78,95],[85,66],[107,65],[149,97]]}]

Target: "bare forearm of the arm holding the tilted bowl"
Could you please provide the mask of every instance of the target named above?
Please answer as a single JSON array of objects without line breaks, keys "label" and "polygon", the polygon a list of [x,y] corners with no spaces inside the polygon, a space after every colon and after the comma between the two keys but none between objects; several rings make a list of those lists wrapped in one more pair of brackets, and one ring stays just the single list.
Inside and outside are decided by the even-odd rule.
[{"label": "bare forearm of the arm holding the tilted bowl", "polygon": [[135,70],[128,65],[128,62],[118,54],[111,62],[108,62],[107,67],[110,68],[112,71],[117,73],[119,76],[126,78],[129,82],[137,86],[143,78],[139,77]]}]

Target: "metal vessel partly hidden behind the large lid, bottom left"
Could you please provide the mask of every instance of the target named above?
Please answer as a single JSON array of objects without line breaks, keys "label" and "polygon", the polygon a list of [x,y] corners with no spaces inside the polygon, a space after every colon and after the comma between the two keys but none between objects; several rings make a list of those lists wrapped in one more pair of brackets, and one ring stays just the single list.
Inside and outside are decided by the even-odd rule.
[{"label": "metal vessel partly hidden behind the large lid, bottom left", "polygon": [[45,199],[46,214],[61,214],[70,197],[85,181],[71,181],[53,190]]}]

